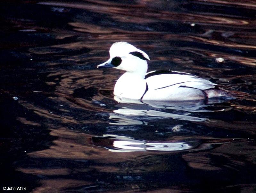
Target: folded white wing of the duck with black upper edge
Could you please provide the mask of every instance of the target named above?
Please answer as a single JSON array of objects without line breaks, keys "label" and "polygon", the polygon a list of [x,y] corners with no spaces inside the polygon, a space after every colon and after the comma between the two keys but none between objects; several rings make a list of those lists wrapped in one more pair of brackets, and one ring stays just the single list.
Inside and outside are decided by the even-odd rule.
[{"label": "folded white wing of the duck with black upper edge", "polygon": [[145,76],[148,89],[158,90],[167,87],[189,87],[200,90],[215,88],[217,84],[186,72],[151,71]]}]

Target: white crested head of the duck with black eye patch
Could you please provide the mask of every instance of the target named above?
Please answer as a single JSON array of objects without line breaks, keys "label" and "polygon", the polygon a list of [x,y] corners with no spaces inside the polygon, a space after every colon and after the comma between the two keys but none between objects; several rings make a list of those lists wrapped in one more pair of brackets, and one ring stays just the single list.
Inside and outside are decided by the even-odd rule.
[{"label": "white crested head of the duck with black eye patch", "polygon": [[110,58],[97,68],[116,68],[133,73],[147,71],[148,55],[127,42],[116,42],[109,49]]}]

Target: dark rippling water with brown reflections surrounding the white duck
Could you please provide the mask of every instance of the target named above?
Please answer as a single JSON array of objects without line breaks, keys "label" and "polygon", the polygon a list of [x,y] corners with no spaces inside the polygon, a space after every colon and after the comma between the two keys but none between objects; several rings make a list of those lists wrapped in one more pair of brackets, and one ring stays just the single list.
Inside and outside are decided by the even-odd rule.
[{"label": "dark rippling water with brown reflections surrounding the white duck", "polygon": [[[10,0],[0,16],[1,191],[256,192],[255,1]],[[96,69],[116,41],[248,94],[118,103],[123,72]]]}]

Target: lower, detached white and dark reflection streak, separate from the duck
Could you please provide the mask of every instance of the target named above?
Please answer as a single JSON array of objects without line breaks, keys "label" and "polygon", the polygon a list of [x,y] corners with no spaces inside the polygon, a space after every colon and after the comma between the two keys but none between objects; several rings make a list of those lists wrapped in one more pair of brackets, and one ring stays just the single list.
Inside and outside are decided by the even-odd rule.
[{"label": "lower, detached white and dark reflection streak, separate from the duck", "polygon": [[[233,143],[240,138],[171,137],[166,141],[146,141],[132,137],[105,134],[92,137],[92,145],[103,147],[110,152],[173,152],[211,149],[214,145]],[[248,139],[250,140],[250,139]]]}]

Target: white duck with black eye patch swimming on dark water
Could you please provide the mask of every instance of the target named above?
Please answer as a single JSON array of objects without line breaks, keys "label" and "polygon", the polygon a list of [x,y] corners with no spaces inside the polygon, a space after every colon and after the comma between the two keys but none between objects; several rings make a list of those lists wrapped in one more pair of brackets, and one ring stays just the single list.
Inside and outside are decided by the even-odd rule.
[{"label": "white duck with black eye patch swimming on dark water", "polygon": [[149,56],[127,42],[113,43],[109,54],[110,58],[97,68],[125,71],[114,87],[114,96],[120,99],[189,101],[229,96],[217,84],[190,73],[171,70],[147,72]]}]

